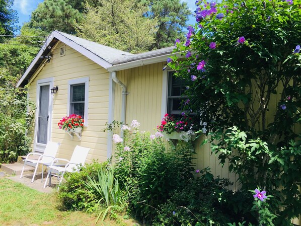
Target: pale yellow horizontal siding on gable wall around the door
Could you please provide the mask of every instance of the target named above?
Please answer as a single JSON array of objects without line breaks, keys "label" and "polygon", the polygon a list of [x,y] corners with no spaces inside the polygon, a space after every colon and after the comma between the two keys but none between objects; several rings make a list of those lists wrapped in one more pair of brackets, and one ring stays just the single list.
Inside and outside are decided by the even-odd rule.
[{"label": "pale yellow horizontal siding on gable wall around the door", "polygon": [[[109,72],[67,45],[65,56],[60,57],[59,48],[62,45],[64,44],[60,42],[53,49],[50,63],[46,63],[31,82],[30,100],[36,102],[37,81],[52,77],[54,86],[58,86],[59,89],[52,96],[51,124],[51,140],[61,143],[58,157],[70,159],[74,147],[82,145],[91,148],[86,162],[91,162],[92,159],[104,162],[107,159],[107,134],[101,130],[108,121]],[[71,139],[67,133],[58,128],[57,123],[67,114],[68,81],[87,77],[89,77],[88,126],[84,127],[81,140],[75,135]],[[30,135],[33,137],[33,130],[30,131]]]}]

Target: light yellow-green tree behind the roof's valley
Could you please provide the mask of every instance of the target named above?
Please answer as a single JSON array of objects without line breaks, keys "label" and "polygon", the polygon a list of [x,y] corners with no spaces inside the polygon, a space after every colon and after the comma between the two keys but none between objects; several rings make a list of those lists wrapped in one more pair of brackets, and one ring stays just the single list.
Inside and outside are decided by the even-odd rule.
[{"label": "light yellow-green tree behind the roof's valley", "polygon": [[87,5],[83,20],[77,25],[79,37],[132,53],[152,46],[157,20],[143,17],[147,7],[124,0],[100,3],[97,8]]}]

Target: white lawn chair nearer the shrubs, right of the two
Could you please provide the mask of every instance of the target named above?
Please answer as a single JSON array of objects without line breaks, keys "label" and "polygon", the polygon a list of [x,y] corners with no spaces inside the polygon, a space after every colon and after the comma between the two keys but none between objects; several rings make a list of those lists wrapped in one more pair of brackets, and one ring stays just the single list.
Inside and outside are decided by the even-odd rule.
[{"label": "white lawn chair nearer the shrubs, right of the two", "polygon": [[55,160],[53,160],[53,163],[55,161],[56,162],[65,161],[65,162],[67,162],[67,164],[65,167],[53,166],[53,164],[51,164],[51,166],[49,166],[47,168],[48,174],[47,174],[47,178],[46,178],[46,181],[44,184],[44,188],[46,187],[48,178],[49,178],[49,186],[51,185],[51,174],[52,173],[55,173],[61,177],[60,181],[59,181],[59,185],[60,185],[65,172],[77,172],[78,166],[84,165],[89,151],[90,151],[90,148],[77,145],[74,148],[74,151],[73,151],[70,161],[68,161],[66,159],[59,159],[59,158],[56,158]]}]

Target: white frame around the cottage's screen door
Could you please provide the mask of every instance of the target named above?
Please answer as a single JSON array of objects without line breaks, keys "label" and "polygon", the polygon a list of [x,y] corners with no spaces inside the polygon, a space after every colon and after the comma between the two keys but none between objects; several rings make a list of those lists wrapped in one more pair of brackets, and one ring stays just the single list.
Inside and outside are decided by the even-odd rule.
[{"label": "white frame around the cottage's screen door", "polygon": [[46,144],[38,143],[38,116],[40,107],[40,87],[49,85],[49,105],[48,105],[48,126],[47,126],[47,142],[51,140],[51,125],[52,125],[52,102],[53,97],[50,89],[53,87],[53,77],[41,79],[37,81],[37,98],[36,98],[36,113],[35,113],[35,132],[34,132],[34,150],[35,152],[44,153]]}]

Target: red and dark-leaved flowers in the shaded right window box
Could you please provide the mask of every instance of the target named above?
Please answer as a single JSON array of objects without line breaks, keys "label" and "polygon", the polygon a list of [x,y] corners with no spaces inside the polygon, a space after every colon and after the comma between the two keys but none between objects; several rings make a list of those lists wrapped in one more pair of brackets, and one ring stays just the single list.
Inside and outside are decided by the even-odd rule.
[{"label": "red and dark-leaved flowers in the shaded right window box", "polygon": [[195,117],[186,115],[184,112],[180,119],[177,119],[175,115],[165,114],[164,118],[161,120],[161,125],[158,125],[157,129],[161,132],[166,132],[167,134],[181,131],[187,132],[189,130],[196,130],[197,123]]}]

